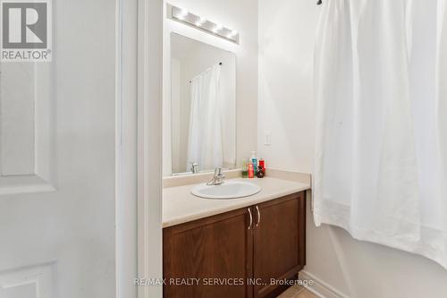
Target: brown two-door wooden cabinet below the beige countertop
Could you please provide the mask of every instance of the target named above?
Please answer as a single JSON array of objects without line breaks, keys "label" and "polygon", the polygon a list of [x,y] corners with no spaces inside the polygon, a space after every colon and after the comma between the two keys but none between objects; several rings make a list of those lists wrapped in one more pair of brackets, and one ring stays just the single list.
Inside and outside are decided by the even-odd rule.
[{"label": "brown two-door wooden cabinet below the beige countertop", "polygon": [[276,297],[306,261],[305,192],[164,228],[164,298]]}]

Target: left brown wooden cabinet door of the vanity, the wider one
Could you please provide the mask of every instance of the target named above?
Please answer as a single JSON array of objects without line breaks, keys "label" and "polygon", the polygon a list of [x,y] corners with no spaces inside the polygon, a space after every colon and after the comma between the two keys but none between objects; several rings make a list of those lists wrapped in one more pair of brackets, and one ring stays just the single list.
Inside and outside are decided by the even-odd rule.
[{"label": "left brown wooden cabinet door of the vanity, the wider one", "polygon": [[[165,298],[253,296],[253,287],[246,285],[253,274],[249,210],[239,209],[164,229]],[[192,285],[178,285],[181,281]]]}]

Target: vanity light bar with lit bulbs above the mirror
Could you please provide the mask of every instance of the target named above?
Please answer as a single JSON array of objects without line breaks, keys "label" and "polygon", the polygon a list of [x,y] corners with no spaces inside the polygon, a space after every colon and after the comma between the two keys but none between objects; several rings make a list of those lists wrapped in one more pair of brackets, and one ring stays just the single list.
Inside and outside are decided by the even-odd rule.
[{"label": "vanity light bar with lit bulbs above the mirror", "polygon": [[209,21],[202,16],[190,13],[189,11],[173,6],[172,4],[167,4],[166,12],[169,19],[180,21],[181,23],[190,25],[198,30],[207,31],[207,33],[211,33],[219,38],[224,38],[239,44],[240,35],[236,30],[226,28],[220,23]]}]

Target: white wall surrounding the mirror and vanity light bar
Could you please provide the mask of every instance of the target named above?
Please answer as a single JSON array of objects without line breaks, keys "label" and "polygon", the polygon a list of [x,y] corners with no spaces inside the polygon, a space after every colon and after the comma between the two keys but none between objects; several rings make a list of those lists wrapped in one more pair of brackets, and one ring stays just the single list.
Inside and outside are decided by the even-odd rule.
[{"label": "white wall surrounding the mirror and vanity light bar", "polygon": [[[217,38],[177,21],[168,20],[164,12],[164,98],[170,98],[170,33],[175,32],[236,54],[237,95],[237,162],[249,158],[250,151],[257,147],[257,0],[173,0],[167,2],[206,17],[210,21],[240,33],[240,44]],[[164,5],[165,9],[165,5]],[[164,115],[170,113],[165,105]],[[164,128],[170,127],[164,117]],[[164,133],[164,135],[167,135]],[[164,138],[164,152],[170,151],[170,142]],[[164,173],[169,173],[164,163]]]}]

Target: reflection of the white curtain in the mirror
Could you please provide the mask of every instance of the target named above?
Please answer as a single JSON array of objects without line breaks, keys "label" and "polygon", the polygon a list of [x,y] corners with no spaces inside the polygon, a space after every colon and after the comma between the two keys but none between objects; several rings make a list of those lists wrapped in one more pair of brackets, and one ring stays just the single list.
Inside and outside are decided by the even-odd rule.
[{"label": "reflection of the white curtain in the mirror", "polygon": [[187,168],[223,166],[221,105],[221,65],[215,64],[191,81],[190,134]]}]

